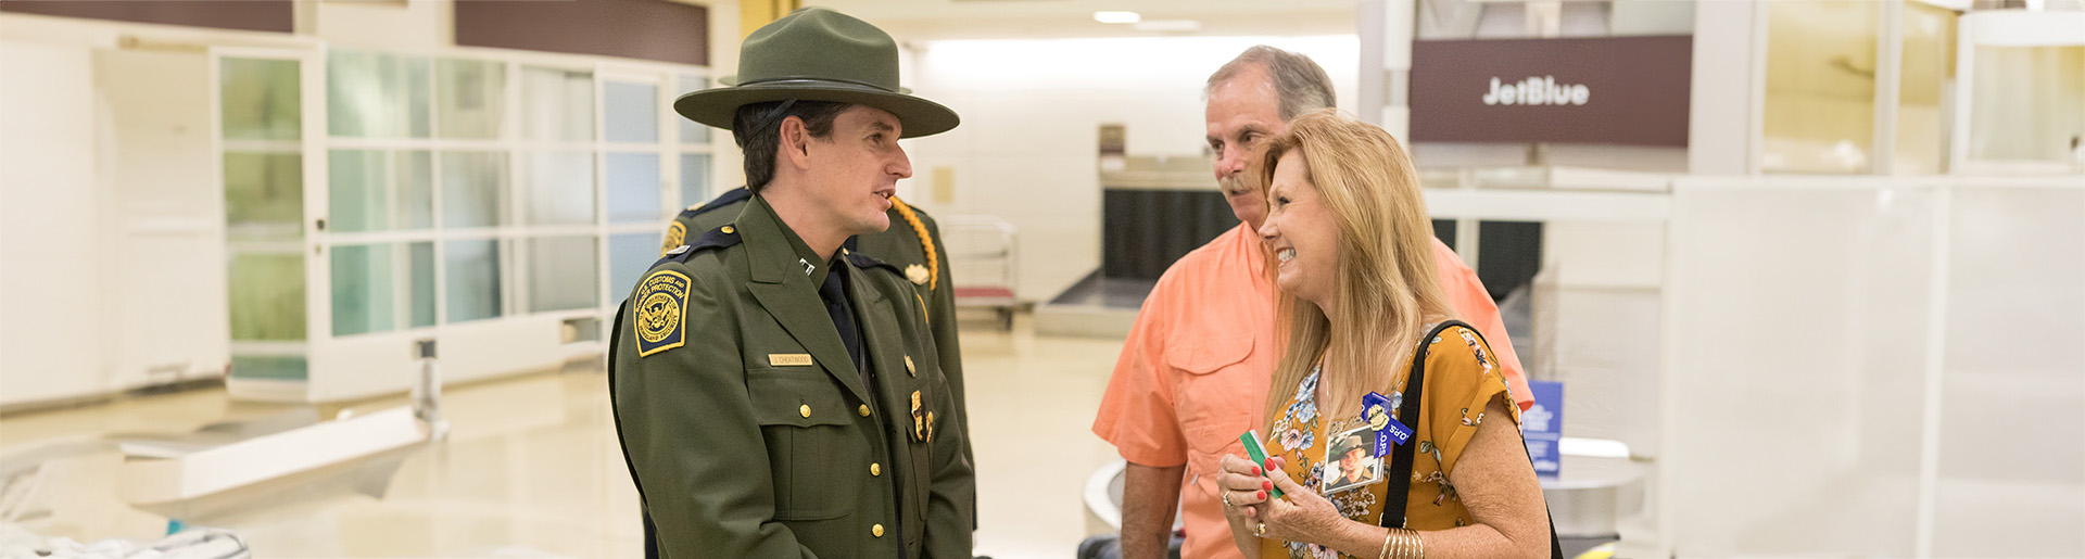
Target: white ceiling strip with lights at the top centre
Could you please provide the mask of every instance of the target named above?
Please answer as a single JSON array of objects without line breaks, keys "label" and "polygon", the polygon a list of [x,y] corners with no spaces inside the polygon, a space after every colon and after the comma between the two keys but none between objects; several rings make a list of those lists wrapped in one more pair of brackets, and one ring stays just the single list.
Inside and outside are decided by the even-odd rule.
[{"label": "white ceiling strip with lights at the top centre", "polygon": [[[1355,33],[1355,0],[803,0],[890,31],[901,42],[982,38],[1163,38]],[[1093,21],[1097,10],[1193,19],[1199,31],[1136,31]]]}]

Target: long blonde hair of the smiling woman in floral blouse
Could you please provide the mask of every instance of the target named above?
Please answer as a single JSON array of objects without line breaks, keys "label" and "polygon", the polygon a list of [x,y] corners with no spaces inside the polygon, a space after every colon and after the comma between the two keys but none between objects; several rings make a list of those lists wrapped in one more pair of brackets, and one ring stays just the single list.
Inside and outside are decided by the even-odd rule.
[{"label": "long blonde hair of the smiling woman in floral blouse", "polygon": [[[1332,273],[1328,319],[1318,305],[1278,294],[1276,317],[1289,332],[1274,367],[1264,426],[1272,432],[1295,386],[1320,359],[1318,413],[1355,417],[1362,394],[1389,394],[1401,361],[1430,321],[1455,317],[1441,296],[1432,261],[1432,221],[1420,196],[1418,171],[1403,146],[1380,127],[1316,111],[1289,123],[1268,148],[1261,184],[1286,152],[1301,152],[1318,200],[1339,225],[1339,263]],[[1316,394],[1305,394],[1316,396]],[[1326,421],[1332,421],[1326,419]]]}]

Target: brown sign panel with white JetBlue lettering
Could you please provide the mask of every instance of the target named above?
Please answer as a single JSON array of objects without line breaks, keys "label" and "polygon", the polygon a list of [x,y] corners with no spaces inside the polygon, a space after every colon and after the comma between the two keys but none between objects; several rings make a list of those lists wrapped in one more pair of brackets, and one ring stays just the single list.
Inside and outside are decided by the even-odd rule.
[{"label": "brown sign panel with white JetBlue lettering", "polygon": [[1687,146],[1691,79],[1689,35],[1412,42],[1412,142]]}]

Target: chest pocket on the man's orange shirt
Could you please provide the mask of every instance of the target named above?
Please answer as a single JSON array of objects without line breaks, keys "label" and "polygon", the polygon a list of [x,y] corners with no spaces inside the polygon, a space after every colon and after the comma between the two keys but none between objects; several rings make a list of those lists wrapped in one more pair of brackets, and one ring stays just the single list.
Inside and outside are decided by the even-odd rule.
[{"label": "chest pocket on the man's orange shirt", "polygon": [[1238,434],[1253,428],[1253,384],[1264,382],[1253,371],[1253,338],[1207,338],[1168,342],[1166,365],[1180,369],[1174,403],[1180,409],[1180,432],[1186,436],[1188,478],[1197,486],[1213,484],[1218,461],[1236,446]]}]

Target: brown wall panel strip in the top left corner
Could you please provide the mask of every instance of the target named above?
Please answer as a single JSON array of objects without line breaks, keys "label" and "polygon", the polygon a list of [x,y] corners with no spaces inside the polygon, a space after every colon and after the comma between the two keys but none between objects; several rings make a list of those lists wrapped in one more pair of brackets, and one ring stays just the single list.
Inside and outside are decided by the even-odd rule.
[{"label": "brown wall panel strip in the top left corner", "polygon": [[0,13],[275,33],[290,33],[296,25],[288,0],[6,0],[0,2]]}]

